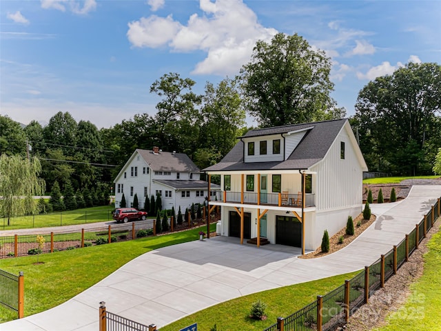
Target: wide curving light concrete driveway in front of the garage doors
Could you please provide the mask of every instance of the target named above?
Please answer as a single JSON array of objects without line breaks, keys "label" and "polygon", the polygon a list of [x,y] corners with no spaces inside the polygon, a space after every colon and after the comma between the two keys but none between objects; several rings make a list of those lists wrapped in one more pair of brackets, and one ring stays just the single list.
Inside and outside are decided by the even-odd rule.
[{"label": "wide curving light concrete driveway in front of the garage doors", "polygon": [[319,259],[298,259],[296,248],[256,248],[226,237],[154,250],[56,308],[0,324],[0,331],[97,331],[100,301],[114,314],[161,328],[246,294],[360,270],[404,239],[439,197],[441,185],[413,186],[403,201],[371,205],[376,222]]}]

